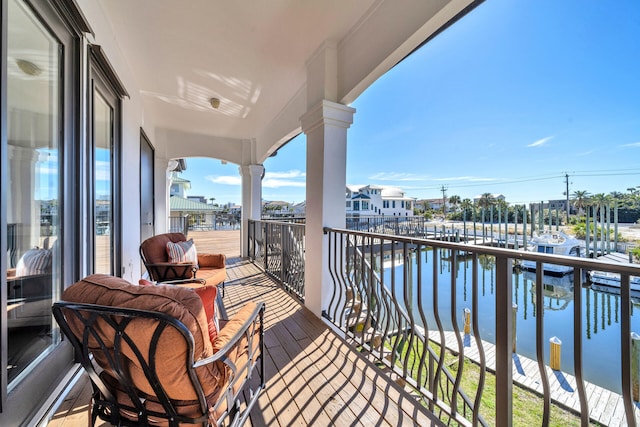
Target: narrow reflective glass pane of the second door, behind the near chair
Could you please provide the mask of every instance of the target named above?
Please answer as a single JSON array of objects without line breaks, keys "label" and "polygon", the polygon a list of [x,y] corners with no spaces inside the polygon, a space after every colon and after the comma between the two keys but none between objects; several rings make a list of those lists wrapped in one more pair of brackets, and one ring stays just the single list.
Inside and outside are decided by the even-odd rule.
[{"label": "narrow reflective glass pane of the second door, behind the near chair", "polygon": [[112,141],[113,110],[98,91],[93,103],[95,173],[95,265],[96,273],[114,274]]}]

